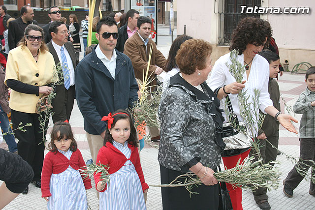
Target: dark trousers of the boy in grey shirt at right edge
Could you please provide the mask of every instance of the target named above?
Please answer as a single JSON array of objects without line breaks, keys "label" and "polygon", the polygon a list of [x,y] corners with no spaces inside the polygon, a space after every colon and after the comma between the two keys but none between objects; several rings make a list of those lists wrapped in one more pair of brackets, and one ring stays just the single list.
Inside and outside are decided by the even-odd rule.
[{"label": "dark trousers of the boy in grey shirt at right edge", "polygon": [[[300,160],[298,164],[305,168],[306,171],[312,167],[312,176],[315,174],[315,165],[309,160],[315,161],[315,138],[300,138]],[[291,188],[295,189],[299,183],[304,179],[304,175],[300,175],[295,165],[285,178],[285,183]],[[315,183],[311,181],[310,191],[315,193]]]}]

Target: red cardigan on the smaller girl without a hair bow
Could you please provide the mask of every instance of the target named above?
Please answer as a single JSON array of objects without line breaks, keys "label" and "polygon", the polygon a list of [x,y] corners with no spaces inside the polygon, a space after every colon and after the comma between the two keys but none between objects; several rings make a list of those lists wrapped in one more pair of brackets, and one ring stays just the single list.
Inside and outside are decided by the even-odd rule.
[{"label": "red cardigan on the smaller girl without a hair bow", "polygon": [[[49,182],[50,177],[52,174],[60,174],[64,172],[68,166],[71,166],[74,170],[79,170],[82,167],[86,166],[83,160],[82,154],[79,149],[75,150],[70,160],[66,158],[62,153],[59,151],[53,152],[50,151],[46,154],[44,159],[43,170],[41,173],[41,197],[50,197],[50,188]],[[81,175],[82,179],[83,176]],[[83,183],[86,189],[91,189],[91,180],[90,179],[83,179]]]}]

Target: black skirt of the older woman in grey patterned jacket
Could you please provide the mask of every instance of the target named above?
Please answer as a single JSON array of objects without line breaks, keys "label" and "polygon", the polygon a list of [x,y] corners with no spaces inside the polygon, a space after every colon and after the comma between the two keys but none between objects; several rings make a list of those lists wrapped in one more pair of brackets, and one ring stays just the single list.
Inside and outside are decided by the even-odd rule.
[{"label": "black skirt of the older woman in grey patterned jacket", "polygon": [[[169,184],[182,172],[160,167],[161,184]],[[184,181],[184,179],[182,179]],[[161,187],[163,210],[218,210],[219,208],[219,184],[206,186],[204,184],[193,187],[193,194],[185,187]]]}]

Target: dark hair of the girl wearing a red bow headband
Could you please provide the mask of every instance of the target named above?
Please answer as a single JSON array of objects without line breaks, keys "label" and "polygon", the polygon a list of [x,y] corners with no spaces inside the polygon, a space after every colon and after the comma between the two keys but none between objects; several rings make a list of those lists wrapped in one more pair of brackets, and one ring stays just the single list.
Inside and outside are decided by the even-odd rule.
[{"label": "dark hair of the girl wearing a red bow headband", "polygon": [[[127,115],[125,115],[125,114],[115,115],[116,113],[119,113],[119,112],[126,113]],[[127,110],[119,109],[119,110],[115,111],[112,115],[115,115],[113,117],[114,121],[112,124],[112,128],[115,126],[115,124],[118,120],[122,120],[122,119],[129,120],[129,122],[130,122],[130,136],[129,136],[129,139],[127,141],[131,145],[133,145],[134,147],[138,147],[138,145],[137,145],[137,131],[136,131],[136,129],[133,125],[132,119],[130,117],[131,114]],[[106,128],[106,131],[105,131],[105,138],[104,138],[104,144],[103,144],[105,147],[106,147],[106,142],[110,142],[111,144],[113,144],[113,137],[110,134],[108,127]]]}]

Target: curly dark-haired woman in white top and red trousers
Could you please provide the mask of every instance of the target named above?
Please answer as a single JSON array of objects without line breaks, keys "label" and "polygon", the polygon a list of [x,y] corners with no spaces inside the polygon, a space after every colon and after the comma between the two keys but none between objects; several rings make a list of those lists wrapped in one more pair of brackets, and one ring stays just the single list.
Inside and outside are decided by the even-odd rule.
[{"label": "curly dark-haired woman in white top and red trousers", "polygon": [[[259,90],[259,109],[261,112],[275,117],[288,131],[297,133],[290,122],[290,120],[297,120],[289,115],[282,114],[273,106],[268,93],[269,63],[266,59],[257,55],[258,52],[262,51],[266,42],[269,42],[271,36],[272,29],[267,21],[251,17],[242,19],[233,31],[230,50],[239,51],[237,59],[244,65],[246,70],[243,75],[243,82],[235,82],[235,78],[229,72],[227,65],[232,62],[230,60],[230,53],[228,53],[216,61],[208,85],[212,90],[216,90],[215,92],[218,93],[217,96],[220,100],[229,95],[233,111],[239,121],[243,121],[243,119],[240,116],[237,94],[244,89],[249,100],[252,100],[254,90]],[[224,106],[221,105],[221,108],[224,108]],[[258,110],[256,111],[258,112]],[[256,138],[265,139],[266,137],[264,134],[261,134]],[[227,169],[233,168],[239,159],[242,162],[249,153],[250,147],[224,150],[222,153],[223,163]],[[228,183],[226,185],[231,197],[233,210],[242,210],[241,188],[233,187]],[[255,191],[254,199],[260,209],[270,209],[266,193]]]}]

